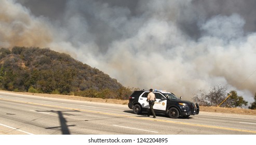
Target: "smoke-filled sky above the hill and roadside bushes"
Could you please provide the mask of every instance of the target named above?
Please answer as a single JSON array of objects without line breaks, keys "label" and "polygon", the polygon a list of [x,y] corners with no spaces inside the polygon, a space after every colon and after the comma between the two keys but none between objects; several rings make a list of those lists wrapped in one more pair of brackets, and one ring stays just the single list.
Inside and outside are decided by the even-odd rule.
[{"label": "smoke-filled sky above the hill and roadside bushes", "polygon": [[[256,0],[0,0],[0,47],[70,54],[129,88],[256,93]],[[249,104],[250,105],[250,104]]]}]

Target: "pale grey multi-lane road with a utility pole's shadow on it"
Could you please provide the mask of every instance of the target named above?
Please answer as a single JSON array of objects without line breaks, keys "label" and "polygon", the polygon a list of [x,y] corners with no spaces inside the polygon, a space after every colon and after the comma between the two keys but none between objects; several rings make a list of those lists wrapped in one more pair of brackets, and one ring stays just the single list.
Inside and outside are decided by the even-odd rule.
[{"label": "pale grey multi-lane road with a utility pole's shadow on it", "polygon": [[0,92],[0,134],[256,134],[256,117],[200,112],[188,119],[133,114],[127,105]]}]

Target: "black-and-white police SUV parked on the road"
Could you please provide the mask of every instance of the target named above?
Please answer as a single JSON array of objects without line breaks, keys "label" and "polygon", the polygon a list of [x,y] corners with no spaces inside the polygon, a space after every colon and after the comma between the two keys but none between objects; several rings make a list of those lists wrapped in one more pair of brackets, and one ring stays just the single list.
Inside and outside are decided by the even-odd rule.
[{"label": "black-and-white police SUV parked on the road", "polygon": [[[129,97],[128,107],[133,110],[133,113],[140,114],[142,111],[149,111],[150,106],[147,103],[147,94],[150,91],[141,90],[134,91]],[[181,100],[173,93],[163,90],[155,90],[153,93],[156,96],[154,111],[155,113],[168,114],[170,118],[189,117],[199,113],[198,104],[191,101]]]}]

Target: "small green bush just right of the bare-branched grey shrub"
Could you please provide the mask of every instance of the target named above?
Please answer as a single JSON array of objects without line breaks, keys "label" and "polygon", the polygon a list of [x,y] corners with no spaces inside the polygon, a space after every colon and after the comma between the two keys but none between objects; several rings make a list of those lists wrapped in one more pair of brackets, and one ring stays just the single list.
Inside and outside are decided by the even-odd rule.
[{"label": "small green bush just right of the bare-branched grey shrub", "polygon": [[229,96],[224,103],[221,105],[221,107],[242,107],[242,105],[247,105],[248,101],[244,100],[242,96],[238,96],[236,91],[230,91],[230,93],[227,94]]}]

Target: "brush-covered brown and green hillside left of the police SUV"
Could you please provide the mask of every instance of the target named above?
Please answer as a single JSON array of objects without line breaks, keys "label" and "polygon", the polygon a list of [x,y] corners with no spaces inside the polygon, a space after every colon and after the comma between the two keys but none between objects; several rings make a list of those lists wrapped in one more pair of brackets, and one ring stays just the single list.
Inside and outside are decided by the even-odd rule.
[{"label": "brush-covered brown and green hillside left of the police SUV", "polygon": [[2,48],[0,66],[1,90],[119,99],[131,93],[99,69],[49,48]]}]

